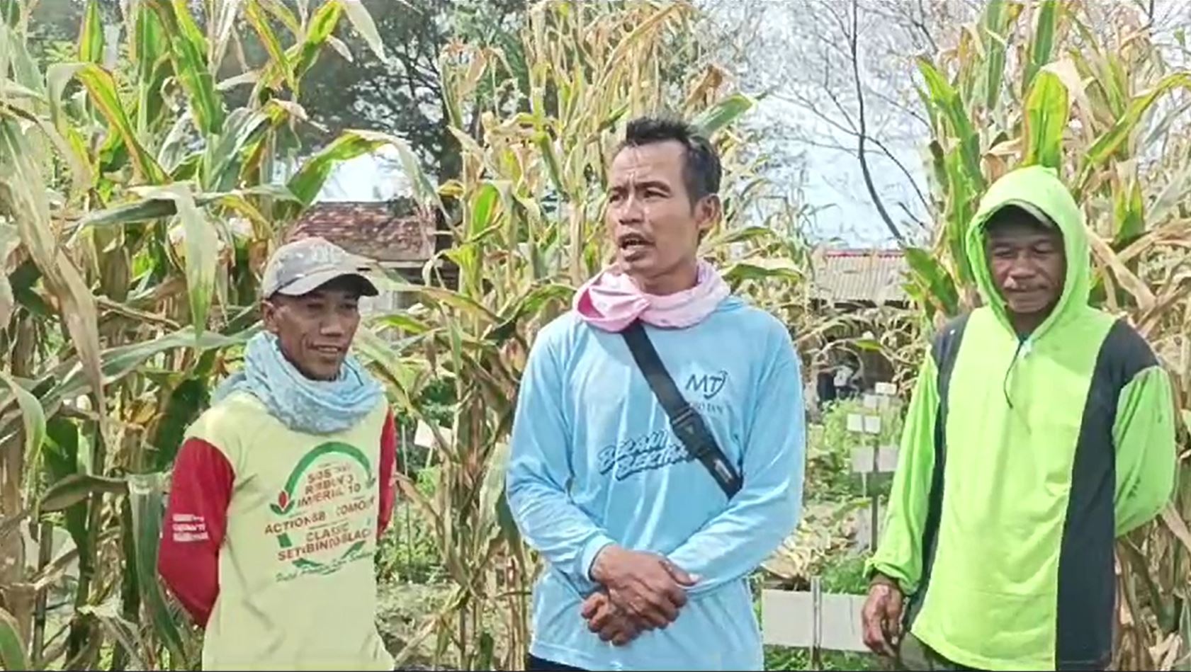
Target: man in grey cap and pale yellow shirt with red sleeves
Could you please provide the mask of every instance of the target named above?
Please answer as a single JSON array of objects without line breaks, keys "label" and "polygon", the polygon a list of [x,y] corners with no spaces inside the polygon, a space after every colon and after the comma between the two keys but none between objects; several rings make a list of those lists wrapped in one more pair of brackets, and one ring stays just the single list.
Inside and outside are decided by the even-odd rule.
[{"label": "man in grey cap and pale yellow shirt with red sleeves", "polygon": [[349,354],[361,259],[320,238],[280,247],[264,331],[174,464],[158,569],[206,629],[204,670],[392,670],[373,554],[394,500],[384,389]]}]

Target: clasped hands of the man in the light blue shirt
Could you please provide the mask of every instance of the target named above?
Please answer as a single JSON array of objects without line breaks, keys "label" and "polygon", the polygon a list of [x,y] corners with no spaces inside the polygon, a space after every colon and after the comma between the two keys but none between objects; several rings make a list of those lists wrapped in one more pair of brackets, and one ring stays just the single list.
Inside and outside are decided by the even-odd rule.
[{"label": "clasped hands of the man in the light blue shirt", "polygon": [[686,604],[686,588],[697,577],[665,555],[607,546],[592,564],[600,590],[584,601],[587,629],[604,641],[624,646],[644,630],[665,628]]}]

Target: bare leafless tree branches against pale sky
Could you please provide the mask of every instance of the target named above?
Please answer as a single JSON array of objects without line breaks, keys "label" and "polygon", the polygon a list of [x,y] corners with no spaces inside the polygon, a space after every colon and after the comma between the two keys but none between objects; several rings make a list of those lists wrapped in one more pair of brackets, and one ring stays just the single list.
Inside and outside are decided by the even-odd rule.
[{"label": "bare leafless tree branches against pale sky", "polygon": [[[792,112],[771,133],[787,151],[838,151],[855,159],[863,196],[900,244],[927,228],[931,202],[911,162],[929,133],[912,58],[934,54],[979,2],[797,0],[710,2],[738,25],[737,70],[747,88]],[[846,181],[848,170],[836,172]],[[831,177],[824,181],[833,181]],[[842,189],[841,189],[842,190]]]}]

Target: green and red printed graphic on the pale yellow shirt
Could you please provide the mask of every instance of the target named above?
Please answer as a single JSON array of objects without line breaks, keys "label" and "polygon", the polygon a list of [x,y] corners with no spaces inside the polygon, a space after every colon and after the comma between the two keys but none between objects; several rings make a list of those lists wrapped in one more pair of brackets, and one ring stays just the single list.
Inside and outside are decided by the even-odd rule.
[{"label": "green and red printed graphic on the pale yellow shirt", "polygon": [[264,528],[278,540],[278,561],[288,566],[278,580],[333,573],[372,558],[375,507],[376,477],[358,448],[328,442],[303,456],[269,505],[274,517]]}]

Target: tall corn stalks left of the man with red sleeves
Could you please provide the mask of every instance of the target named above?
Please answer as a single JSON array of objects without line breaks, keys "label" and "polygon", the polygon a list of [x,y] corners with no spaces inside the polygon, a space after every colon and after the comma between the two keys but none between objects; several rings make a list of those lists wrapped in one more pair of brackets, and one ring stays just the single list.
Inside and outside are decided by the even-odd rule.
[{"label": "tall corn stalks left of the man with red sleeves", "polygon": [[[156,578],[182,432],[256,328],[285,224],[337,162],[409,152],[356,132],[298,161],[300,84],[336,27],[381,50],[360,2],[208,1],[204,30],[192,2],[129,0],[113,33],[91,0],[74,61],[44,73],[35,5],[0,2],[0,664],[186,668],[199,638]],[[217,81],[243,26],[268,61]]]}]

